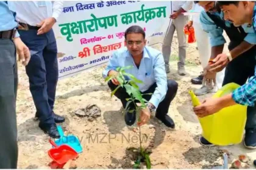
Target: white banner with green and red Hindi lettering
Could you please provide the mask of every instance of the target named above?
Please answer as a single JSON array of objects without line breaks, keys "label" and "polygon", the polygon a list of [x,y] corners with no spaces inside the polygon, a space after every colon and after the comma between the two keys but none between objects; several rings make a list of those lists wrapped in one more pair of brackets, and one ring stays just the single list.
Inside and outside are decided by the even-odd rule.
[{"label": "white banner with green and red Hindi lettering", "polygon": [[124,32],[140,25],[148,46],[162,43],[169,25],[167,1],[65,1],[54,25],[59,78],[76,75],[107,63],[124,47]]}]

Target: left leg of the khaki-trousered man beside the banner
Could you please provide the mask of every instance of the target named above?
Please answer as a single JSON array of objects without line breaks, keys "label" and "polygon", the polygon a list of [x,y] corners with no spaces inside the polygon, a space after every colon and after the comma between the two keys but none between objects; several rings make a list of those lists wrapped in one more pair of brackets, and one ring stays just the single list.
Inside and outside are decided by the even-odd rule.
[{"label": "left leg of the khaki-trousered man beside the banner", "polygon": [[162,46],[162,53],[163,53],[163,59],[165,60],[166,73],[170,72],[169,61],[171,56],[171,43],[172,43],[174,31],[175,31],[174,21],[172,20],[171,24],[169,25],[168,32],[166,33],[165,39],[163,40],[163,46]]}]

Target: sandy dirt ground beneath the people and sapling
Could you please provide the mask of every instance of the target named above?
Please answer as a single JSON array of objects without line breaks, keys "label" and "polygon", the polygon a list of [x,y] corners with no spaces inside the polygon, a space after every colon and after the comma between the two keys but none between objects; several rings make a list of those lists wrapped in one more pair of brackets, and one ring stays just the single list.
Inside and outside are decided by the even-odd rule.
[{"label": "sandy dirt ground beneath the people and sapling", "polygon": [[[155,46],[160,49],[161,46]],[[201,126],[192,112],[188,89],[199,88],[190,79],[202,71],[196,43],[188,44],[187,72],[185,77],[177,75],[177,37],[172,43],[171,73],[179,83],[176,97],[169,108],[169,115],[176,123],[176,129],[168,129],[156,118],[141,127],[143,146],[152,149],[152,168],[212,168],[221,165],[222,149],[230,152],[229,163],[240,154],[256,159],[256,151],[245,149],[243,144],[228,147],[203,147],[198,143]],[[110,90],[101,77],[104,66],[82,72],[71,78],[60,80],[57,86],[55,113],[64,115],[62,124],[66,134],[79,137],[84,151],[76,160],[77,168],[132,168],[132,155],[127,148],[138,147],[138,129],[127,127],[121,113],[121,102],[110,98]],[[19,65],[19,87],[17,100],[18,119],[18,168],[49,169],[51,148],[49,137],[34,120],[35,106],[29,91],[29,81],[24,67]],[[199,97],[201,100],[211,94]],[[96,104],[101,109],[101,117],[80,118],[74,114],[77,109],[88,104]],[[147,138],[148,137],[148,138]]]}]

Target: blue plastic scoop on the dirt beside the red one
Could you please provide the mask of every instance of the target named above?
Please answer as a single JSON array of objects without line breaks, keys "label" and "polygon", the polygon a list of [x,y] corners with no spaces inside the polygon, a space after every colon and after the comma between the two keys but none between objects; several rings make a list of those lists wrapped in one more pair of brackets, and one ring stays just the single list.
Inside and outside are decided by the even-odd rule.
[{"label": "blue plastic scoop on the dirt beside the red one", "polygon": [[60,138],[55,140],[55,144],[57,146],[60,146],[62,144],[67,144],[68,146],[73,148],[77,153],[81,153],[83,151],[83,148],[80,144],[80,141],[75,135],[65,136],[63,131],[62,131],[61,126],[57,126],[57,129],[60,133]]}]

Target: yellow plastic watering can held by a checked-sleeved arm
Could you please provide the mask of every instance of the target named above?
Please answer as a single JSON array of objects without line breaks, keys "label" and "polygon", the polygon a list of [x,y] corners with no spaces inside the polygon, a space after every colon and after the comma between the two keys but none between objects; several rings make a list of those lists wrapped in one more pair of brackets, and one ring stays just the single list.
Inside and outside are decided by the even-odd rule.
[{"label": "yellow plastic watering can held by a checked-sleeved arm", "polygon": [[[238,87],[240,87],[240,85],[235,83],[226,84],[213,95],[213,98],[230,94]],[[223,108],[213,115],[199,118],[199,122],[202,126],[202,136],[210,141],[210,143],[219,146],[241,143],[246,118],[247,106],[235,104]]]}]

